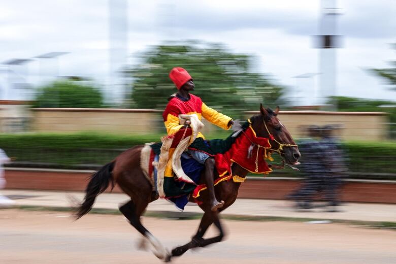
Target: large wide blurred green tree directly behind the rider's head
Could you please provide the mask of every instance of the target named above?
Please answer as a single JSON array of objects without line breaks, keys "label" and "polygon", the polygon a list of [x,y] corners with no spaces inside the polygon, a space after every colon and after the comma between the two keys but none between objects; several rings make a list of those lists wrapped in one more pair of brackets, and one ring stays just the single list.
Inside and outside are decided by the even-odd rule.
[{"label": "large wide blurred green tree directly behind the rider's head", "polygon": [[132,78],[133,107],[164,109],[177,91],[169,79],[174,67],[185,68],[195,83],[193,94],[212,108],[242,117],[244,110],[258,110],[259,103],[282,105],[283,87],[266,76],[249,71],[252,57],[228,52],[221,44],[172,43],[152,47],[142,62],[125,73]]}]

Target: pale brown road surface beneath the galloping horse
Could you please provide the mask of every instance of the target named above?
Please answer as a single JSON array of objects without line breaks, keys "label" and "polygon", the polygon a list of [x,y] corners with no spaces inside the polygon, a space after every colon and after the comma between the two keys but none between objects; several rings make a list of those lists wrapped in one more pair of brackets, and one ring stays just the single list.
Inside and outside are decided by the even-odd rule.
[{"label": "pale brown road surface beneath the galloping horse", "polygon": [[[167,247],[187,242],[198,223],[144,219]],[[173,263],[390,264],[396,259],[394,230],[289,221],[223,223],[229,233],[224,242],[189,251]],[[136,249],[139,235],[119,215],[89,214],[73,222],[62,212],[0,210],[0,237],[2,264],[161,263]]]}]

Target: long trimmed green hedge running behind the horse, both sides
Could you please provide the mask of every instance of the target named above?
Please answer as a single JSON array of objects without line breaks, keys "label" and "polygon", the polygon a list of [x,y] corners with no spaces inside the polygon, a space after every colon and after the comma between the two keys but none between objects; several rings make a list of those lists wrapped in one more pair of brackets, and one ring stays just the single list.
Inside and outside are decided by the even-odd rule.
[{"label": "long trimmed green hedge running behind the horse, both sides", "polygon": [[[3,134],[0,135],[0,148],[9,156],[16,157],[11,166],[96,169],[124,149],[159,139],[160,135]],[[344,142],[343,146],[348,153],[349,169],[354,172],[354,178],[396,179],[396,142],[356,141]],[[297,174],[284,170],[282,175]]]}]

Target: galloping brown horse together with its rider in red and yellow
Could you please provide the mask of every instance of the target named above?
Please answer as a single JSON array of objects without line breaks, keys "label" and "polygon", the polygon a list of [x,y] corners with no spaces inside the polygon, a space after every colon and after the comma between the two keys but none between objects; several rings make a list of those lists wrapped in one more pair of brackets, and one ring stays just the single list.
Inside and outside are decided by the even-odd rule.
[{"label": "galloping brown horse together with its rider in red and yellow", "polygon": [[[234,124],[230,117],[210,109],[199,97],[189,93],[193,90],[194,84],[191,76],[184,69],[173,69],[170,73],[170,78],[179,91],[171,96],[171,100],[163,113],[163,119],[168,134],[172,135],[173,139],[184,133],[181,129],[184,128],[187,131],[189,123],[181,124],[182,122],[178,118],[181,114],[195,114],[199,119],[204,117],[224,129],[228,129]],[[225,233],[219,219],[219,213],[234,204],[238,196],[239,187],[245,181],[247,174],[249,172],[268,174],[272,169],[283,169],[285,165],[296,165],[301,156],[298,146],[293,141],[289,131],[277,117],[279,107],[272,110],[260,105],[259,110],[258,114],[253,115],[243,123],[242,129],[233,133],[227,139],[212,140],[210,142],[208,151],[211,151],[217,158],[216,175],[218,174],[219,176],[216,180],[215,188],[213,186],[213,176],[215,174],[214,159],[203,152],[194,152],[191,151],[191,148],[188,150],[195,160],[205,164],[206,167],[203,174],[205,176],[196,187],[202,187],[204,185],[203,180],[206,180],[209,190],[201,195],[199,193],[194,195],[194,190],[193,195],[190,196],[199,200],[200,203],[198,205],[204,211],[204,215],[195,235],[188,243],[168,251],[141,222],[141,216],[148,204],[159,197],[159,195],[152,195],[153,187],[155,186],[147,178],[141,164],[142,153],[146,145],[137,145],[122,152],[111,162],[92,174],[86,187],[84,200],[75,212],[76,217],[80,218],[87,214],[91,210],[96,196],[104,192],[111,184],[114,186],[116,183],[130,197],[128,202],[119,207],[120,212],[143,235],[140,246],[151,245],[153,253],[158,258],[164,261],[171,261],[173,257],[181,256],[189,249],[206,247],[222,241]],[[195,119],[192,118],[191,120]],[[194,126],[195,123],[196,121],[191,122],[190,126]],[[179,130],[180,133],[178,133]],[[192,129],[188,128],[188,130]],[[191,145],[195,141],[201,145],[206,144],[202,134],[198,134]],[[216,146],[218,148],[227,146],[227,148],[215,151]],[[267,164],[266,159],[271,160],[271,153],[273,152],[281,156],[283,160],[281,166]],[[224,173],[219,173],[220,171]],[[221,202],[218,202],[215,193],[217,194],[217,199]],[[218,235],[212,238],[204,238],[206,231],[212,224],[218,229]]]}]

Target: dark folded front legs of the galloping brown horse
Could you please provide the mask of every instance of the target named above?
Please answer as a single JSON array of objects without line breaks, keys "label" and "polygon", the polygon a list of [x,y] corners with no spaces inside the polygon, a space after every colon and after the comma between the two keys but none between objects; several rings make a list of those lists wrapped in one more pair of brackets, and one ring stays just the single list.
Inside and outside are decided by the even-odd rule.
[{"label": "dark folded front legs of the galloping brown horse", "polygon": [[[214,238],[204,239],[203,237],[212,223],[215,223],[216,227],[219,229],[220,234]],[[220,242],[223,237],[224,232],[220,224],[218,212],[212,212],[211,210],[206,211],[201,219],[200,227],[198,228],[197,233],[192,237],[191,241],[183,246],[174,248],[172,250],[172,256],[180,256],[191,248],[205,247],[209,244]]]}]

